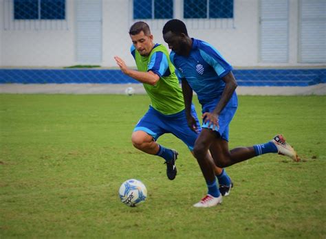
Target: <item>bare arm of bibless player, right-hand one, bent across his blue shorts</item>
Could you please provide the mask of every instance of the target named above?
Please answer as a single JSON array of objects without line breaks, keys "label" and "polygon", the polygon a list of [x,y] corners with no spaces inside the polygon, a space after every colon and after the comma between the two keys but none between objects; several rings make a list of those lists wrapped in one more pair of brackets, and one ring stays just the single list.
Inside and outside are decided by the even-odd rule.
[{"label": "bare arm of bibless player, right-hand one, bent across his blue shorts", "polygon": [[221,100],[219,100],[219,103],[215,107],[213,112],[206,112],[202,115],[202,118],[204,119],[204,122],[209,121],[209,126],[218,126],[218,118],[221,111],[224,109],[226,104],[228,104],[228,101],[232,97],[233,92],[237,88],[238,84],[235,80],[235,76],[233,76],[232,71],[230,71],[226,76],[222,78],[224,82],[226,82],[226,87],[224,88],[224,91],[221,95]]}]

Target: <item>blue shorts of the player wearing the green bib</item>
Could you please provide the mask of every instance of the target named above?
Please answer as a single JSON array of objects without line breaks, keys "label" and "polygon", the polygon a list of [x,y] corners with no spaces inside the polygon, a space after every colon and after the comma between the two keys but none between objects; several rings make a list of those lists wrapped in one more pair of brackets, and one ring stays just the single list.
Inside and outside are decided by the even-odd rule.
[{"label": "blue shorts of the player wearing the green bib", "polygon": [[193,150],[193,146],[201,130],[195,106],[191,106],[191,115],[195,117],[197,122],[198,133],[195,133],[188,127],[184,110],[173,115],[164,115],[156,111],[152,106],[149,106],[149,110],[140,119],[133,129],[133,132],[142,130],[151,135],[155,141],[161,135],[171,133],[184,141],[184,144],[186,144],[190,150]]}]

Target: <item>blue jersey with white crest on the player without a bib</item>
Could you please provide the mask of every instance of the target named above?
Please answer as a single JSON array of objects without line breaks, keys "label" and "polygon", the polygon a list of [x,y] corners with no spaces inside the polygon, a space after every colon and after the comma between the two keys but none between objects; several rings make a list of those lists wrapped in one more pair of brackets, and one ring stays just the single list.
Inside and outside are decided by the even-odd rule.
[{"label": "blue jersey with white crest on the player without a bib", "polygon": [[[186,78],[188,84],[197,93],[200,104],[221,98],[225,82],[221,79],[232,71],[232,66],[226,62],[212,45],[191,38],[193,46],[188,57],[171,52],[170,59],[175,65],[179,78]],[[237,95],[233,93],[228,106],[237,106]]]}]

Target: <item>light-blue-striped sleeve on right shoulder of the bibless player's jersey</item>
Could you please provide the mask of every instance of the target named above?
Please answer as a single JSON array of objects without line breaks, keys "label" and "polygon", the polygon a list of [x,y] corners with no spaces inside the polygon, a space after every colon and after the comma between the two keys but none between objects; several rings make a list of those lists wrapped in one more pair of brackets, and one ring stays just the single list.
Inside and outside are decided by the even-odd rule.
[{"label": "light-blue-striped sleeve on right shoulder of the bibless player's jersey", "polygon": [[221,56],[212,45],[202,42],[199,48],[200,55],[215,69],[217,75],[222,78],[232,71],[232,66]]}]

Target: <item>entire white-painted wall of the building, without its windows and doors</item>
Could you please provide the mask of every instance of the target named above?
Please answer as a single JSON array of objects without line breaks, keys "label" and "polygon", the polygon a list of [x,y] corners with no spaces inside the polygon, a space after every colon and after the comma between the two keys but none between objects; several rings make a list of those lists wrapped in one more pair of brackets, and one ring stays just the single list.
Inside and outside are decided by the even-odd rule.
[{"label": "entire white-painted wall of the building, without its windows and doors", "polygon": [[[302,65],[298,64],[298,1],[290,0],[289,62],[283,64],[259,62],[260,0],[235,0],[235,18],[231,22],[222,20],[213,26],[206,20],[185,22],[190,36],[214,45],[235,67]],[[133,23],[131,3],[131,0],[102,0],[102,67],[116,67],[113,56],[120,56],[127,65],[135,66],[129,52],[131,40],[128,31]],[[175,0],[176,18],[182,17],[181,9],[182,0]],[[6,11],[2,3],[0,10]],[[78,64],[75,10],[75,1],[67,0],[67,27],[64,29],[16,27],[5,30],[1,27],[0,65],[63,67]],[[162,27],[165,22],[166,20],[149,21],[154,41],[164,45]]]}]

